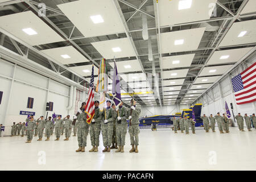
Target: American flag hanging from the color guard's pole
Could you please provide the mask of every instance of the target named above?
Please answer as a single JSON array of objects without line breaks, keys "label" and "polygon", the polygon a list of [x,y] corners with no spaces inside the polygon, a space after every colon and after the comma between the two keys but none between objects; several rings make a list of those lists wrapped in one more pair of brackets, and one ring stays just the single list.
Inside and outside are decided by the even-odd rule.
[{"label": "American flag hanging from the color guard's pole", "polygon": [[86,122],[90,124],[94,117],[94,75],[93,75],[93,67],[92,67],[92,76],[90,77],[90,86],[88,93],[88,100],[85,105],[85,113],[87,114]]}]

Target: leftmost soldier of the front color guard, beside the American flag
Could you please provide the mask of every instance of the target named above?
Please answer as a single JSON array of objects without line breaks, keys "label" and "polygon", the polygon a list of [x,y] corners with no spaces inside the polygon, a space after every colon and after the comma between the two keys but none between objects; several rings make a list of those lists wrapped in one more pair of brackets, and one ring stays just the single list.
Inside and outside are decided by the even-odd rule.
[{"label": "leftmost soldier of the front color guard, beside the American flag", "polygon": [[79,149],[77,149],[76,152],[85,152],[87,135],[89,133],[90,125],[86,122],[87,114],[84,110],[85,102],[82,102],[82,106],[78,111],[79,113],[75,116],[75,119],[77,119],[77,140],[79,143]]}]

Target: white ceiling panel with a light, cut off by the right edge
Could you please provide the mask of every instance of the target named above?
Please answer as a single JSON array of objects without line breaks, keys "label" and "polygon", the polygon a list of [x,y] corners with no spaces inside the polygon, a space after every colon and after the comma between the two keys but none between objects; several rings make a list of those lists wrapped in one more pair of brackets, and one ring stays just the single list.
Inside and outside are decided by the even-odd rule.
[{"label": "white ceiling panel with a light, cut off by the right edge", "polygon": [[[226,34],[224,39],[221,41],[220,47],[255,43],[255,24],[256,19],[234,23],[232,27],[229,29],[228,34]],[[245,31],[246,34],[244,36],[238,37],[241,34],[241,32]]]}]

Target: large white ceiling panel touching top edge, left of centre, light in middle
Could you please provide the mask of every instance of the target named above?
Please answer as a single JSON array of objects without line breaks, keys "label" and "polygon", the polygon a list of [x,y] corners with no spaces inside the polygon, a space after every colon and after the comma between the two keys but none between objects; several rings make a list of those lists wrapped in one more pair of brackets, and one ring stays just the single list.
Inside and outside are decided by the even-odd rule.
[{"label": "large white ceiling panel touching top edge, left of centre, light in middle", "polygon": [[[57,5],[86,38],[125,32],[112,0],[75,1]],[[104,22],[93,23],[100,15]]]}]

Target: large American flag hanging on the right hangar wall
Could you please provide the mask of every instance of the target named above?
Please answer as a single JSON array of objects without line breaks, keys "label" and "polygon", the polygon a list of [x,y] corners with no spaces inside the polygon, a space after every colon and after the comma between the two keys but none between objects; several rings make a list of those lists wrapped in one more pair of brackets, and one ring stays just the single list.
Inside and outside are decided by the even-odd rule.
[{"label": "large American flag hanging on the right hangar wall", "polygon": [[238,105],[256,101],[256,62],[231,80]]}]

